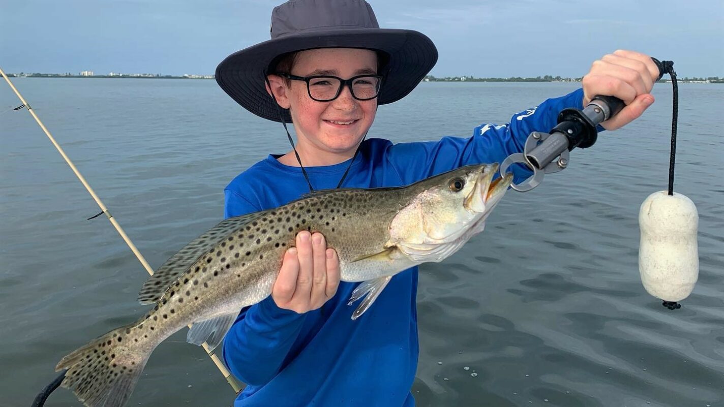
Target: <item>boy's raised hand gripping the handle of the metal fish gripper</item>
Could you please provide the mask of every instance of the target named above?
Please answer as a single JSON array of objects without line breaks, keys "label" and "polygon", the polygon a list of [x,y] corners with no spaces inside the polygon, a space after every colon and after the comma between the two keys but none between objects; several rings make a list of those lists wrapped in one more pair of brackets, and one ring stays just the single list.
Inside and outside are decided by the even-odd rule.
[{"label": "boy's raised hand gripping the handle of the metal fish gripper", "polygon": [[602,122],[606,130],[615,130],[641,116],[652,103],[649,92],[659,77],[651,57],[636,51],[618,50],[594,61],[581,83],[584,106],[594,96],[616,96],[626,104],[613,118]]}]

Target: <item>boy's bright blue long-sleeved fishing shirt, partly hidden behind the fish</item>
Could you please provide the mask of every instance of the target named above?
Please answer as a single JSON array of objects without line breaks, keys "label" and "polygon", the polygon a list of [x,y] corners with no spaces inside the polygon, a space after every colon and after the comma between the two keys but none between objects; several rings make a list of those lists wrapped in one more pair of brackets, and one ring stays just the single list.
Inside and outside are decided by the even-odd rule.
[{"label": "boy's bright blue long-sleeved fishing shirt, partly hidden behind the fish", "polygon": [[[393,144],[371,138],[354,160],[345,188],[408,185],[467,164],[501,162],[523,150],[529,133],[548,131],[566,107],[581,108],[583,91],[544,101],[515,114],[505,125],[481,125],[468,138]],[[335,188],[349,161],[305,167],[315,189]],[[512,168],[516,182],[531,173]],[[276,156],[238,175],[225,194],[224,217],[287,204],[308,193],[299,167]],[[247,387],[235,407],[414,406],[411,386],[418,360],[416,291],[418,269],[392,277],[365,314],[350,316],[348,299],[358,283],[340,282],[323,309],[296,314],[269,296],[240,311],[224,339],[222,354]]]}]

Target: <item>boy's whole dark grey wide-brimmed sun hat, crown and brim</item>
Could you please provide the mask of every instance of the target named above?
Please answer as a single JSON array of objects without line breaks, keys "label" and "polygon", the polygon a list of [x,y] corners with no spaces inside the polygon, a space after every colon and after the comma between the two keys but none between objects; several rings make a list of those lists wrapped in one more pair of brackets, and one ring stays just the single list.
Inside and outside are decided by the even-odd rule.
[{"label": "boy's whole dark grey wide-brimmed sun hat, crown and brim", "polygon": [[[271,12],[271,39],[227,56],[216,67],[216,83],[238,104],[264,119],[281,122],[279,107],[266,92],[266,75],[278,56],[317,48],[381,51],[387,64],[377,104],[410,93],[437,62],[432,41],[414,30],[379,28],[364,0],[290,0]],[[285,122],[292,118],[282,109]]]}]

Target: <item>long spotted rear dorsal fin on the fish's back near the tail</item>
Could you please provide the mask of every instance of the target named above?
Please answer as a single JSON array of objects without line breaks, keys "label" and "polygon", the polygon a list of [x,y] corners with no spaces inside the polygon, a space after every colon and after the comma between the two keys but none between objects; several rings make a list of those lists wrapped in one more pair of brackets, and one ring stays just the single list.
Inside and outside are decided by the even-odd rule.
[{"label": "long spotted rear dorsal fin on the fish's back near the tail", "polygon": [[211,248],[216,247],[233,231],[240,229],[263,214],[266,214],[266,211],[225,219],[207,230],[203,235],[195,238],[156,269],[151,277],[148,277],[148,280],[143,284],[143,288],[140,289],[140,293],[138,293],[138,302],[147,305],[159,301],[169,285],[172,285],[174,281],[184,274],[199,257],[203,256],[204,253],[209,253]]}]

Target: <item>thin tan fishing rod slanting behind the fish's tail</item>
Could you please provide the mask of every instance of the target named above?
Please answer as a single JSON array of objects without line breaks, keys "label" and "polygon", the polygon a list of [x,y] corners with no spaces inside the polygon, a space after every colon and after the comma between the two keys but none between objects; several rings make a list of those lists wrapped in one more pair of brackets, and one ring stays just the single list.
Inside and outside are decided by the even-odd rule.
[{"label": "thin tan fishing rod slanting behind the fish's tail", "polygon": [[[121,235],[121,238],[123,239],[123,241],[125,241],[127,246],[131,249],[133,254],[136,256],[136,259],[138,259],[138,261],[140,261],[140,264],[143,266],[143,268],[146,269],[146,272],[148,272],[148,274],[153,275],[153,269],[148,264],[148,261],[146,261],[146,259],[143,257],[143,254],[141,254],[140,251],[138,250],[138,248],[135,246],[135,244],[133,244],[133,242],[130,240],[130,238],[126,234],[125,230],[123,230],[121,225],[119,225],[116,218],[113,217],[113,215],[111,215],[111,212],[108,210],[108,208],[103,203],[103,201],[101,201],[101,198],[99,198],[98,195],[96,195],[96,192],[93,190],[93,188],[90,187],[90,184],[88,183],[88,181],[85,180],[85,177],[83,177],[83,175],[80,174],[80,171],[77,169],[77,167],[75,167],[75,164],[73,164],[73,161],[67,156],[67,154],[65,154],[65,151],[63,151],[63,148],[55,140],[53,135],[51,135],[51,133],[45,127],[45,125],[43,125],[43,122],[38,117],[38,115],[35,114],[35,111],[30,106],[30,104],[28,104],[28,102],[25,101],[25,98],[22,97],[20,92],[17,91],[17,88],[15,88],[15,86],[12,84],[9,77],[7,77],[7,75],[5,75],[5,72],[4,72],[4,70],[2,70],[2,68],[0,68],[0,75],[2,75],[2,77],[4,77],[7,84],[10,86],[10,88],[12,88],[12,91],[15,93],[15,95],[17,95],[18,98],[20,98],[20,101],[22,102],[22,104],[20,106],[17,106],[13,110],[15,110],[15,111],[18,111],[21,109],[28,110],[30,115],[33,116],[33,119],[35,119],[35,122],[38,122],[38,125],[41,127],[41,129],[43,129],[43,132],[46,133],[48,138],[51,140],[51,143],[53,143],[55,148],[58,150],[60,155],[63,157],[65,162],[70,167],[70,169],[72,169],[73,173],[78,178],[78,180],[80,180],[80,182],[83,183],[83,186],[85,187],[85,189],[88,190],[88,193],[90,193],[90,196],[93,197],[93,201],[96,201],[96,204],[98,204],[98,207],[101,209],[101,212],[94,215],[93,217],[88,218],[88,220],[95,219],[96,217],[99,217],[102,214],[105,214],[106,217],[108,218],[108,220],[111,222],[111,225],[113,225],[113,227],[117,230],[118,234]],[[232,389],[234,389],[234,392],[239,393],[241,390],[241,385],[232,376],[232,374],[229,372],[229,370],[226,368],[226,366],[224,366],[221,359],[219,359],[219,356],[216,356],[216,353],[214,353],[214,351],[211,351],[211,348],[209,348],[209,345],[207,345],[206,342],[204,342],[202,344],[202,346],[203,346],[203,350],[206,351],[206,354],[209,355],[209,357],[211,358],[212,361],[214,361],[214,364],[216,364],[216,367],[219,368],[219,371],[222,372],[222,374],[224,375],[224,378],[227,379],[227,382],[229,382],[229,385],[231,385]],[[59,385],[61,385],[64,377],[65,377],[65,371],[61,372],[61,374],[59,374],[59,376],[56,377],[56,379],[54,379],[54,381],[51,382],[50,385],[46,386],[41,391],[41,393],[38,394],[38,396],[35,398],[35,401],[33,402],[33,407],[43,406],[43,403],[45,403],[45,400],[48,398],[50,393],[52,393],[53,390],[55,390]]]}]

